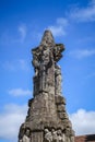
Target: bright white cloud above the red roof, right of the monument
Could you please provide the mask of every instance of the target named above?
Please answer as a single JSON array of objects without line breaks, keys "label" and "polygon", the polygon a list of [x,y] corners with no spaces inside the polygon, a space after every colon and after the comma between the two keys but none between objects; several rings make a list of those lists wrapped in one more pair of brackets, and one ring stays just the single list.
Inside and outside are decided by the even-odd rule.
[{"label": "bright white cloud above the red roof, right of the monument", "polygon": [[95,111],[79,109],[70,119],[76,135],[95,133]]}]

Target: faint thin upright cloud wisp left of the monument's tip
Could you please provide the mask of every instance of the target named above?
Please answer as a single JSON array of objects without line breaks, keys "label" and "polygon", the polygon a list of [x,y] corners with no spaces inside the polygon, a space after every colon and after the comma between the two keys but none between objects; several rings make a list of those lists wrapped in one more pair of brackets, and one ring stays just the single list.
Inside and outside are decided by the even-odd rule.
[{"label": "faint thin upright cloud wisp left of the monument's tip", "polygon": [[26,37],[26,26],[25,24],[22,24],[19,26],[19,32],[21,34],[21,42],[24,42],[25,37]]}]

